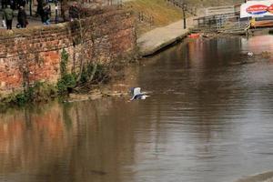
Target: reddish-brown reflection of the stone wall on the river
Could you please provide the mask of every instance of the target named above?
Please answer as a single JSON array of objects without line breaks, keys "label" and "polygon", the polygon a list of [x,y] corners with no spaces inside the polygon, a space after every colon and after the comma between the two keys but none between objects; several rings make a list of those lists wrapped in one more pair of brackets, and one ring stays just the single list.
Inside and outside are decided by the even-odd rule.
[{"label": "reddish-brown reflection of the stone wall on the river", "polygon": [[103,115],[98,118],[99,113],[113,112],[109,111],[114,109],[112,101],[45,107],[40,108],[43,111],[25,108],[4,116],[0,126],[3,179],[121,181],[118,161],[131,164],[130,156],[122,153],[132,150],[134,142],[132,136],[126,136],[130,128],[126,120],[119,120],[124,129],[104,121]]}]

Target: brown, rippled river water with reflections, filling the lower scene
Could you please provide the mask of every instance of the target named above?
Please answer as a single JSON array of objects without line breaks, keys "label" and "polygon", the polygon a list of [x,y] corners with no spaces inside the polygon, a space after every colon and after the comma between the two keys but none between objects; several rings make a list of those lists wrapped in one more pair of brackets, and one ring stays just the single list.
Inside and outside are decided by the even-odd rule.
[{"label": "brown, rippled river water with reflections, filling the lower scene", "polygon": [[272,171],[265,50],[273,51],[272,35],[189,40],[128,70],[126,84],[150,91],[147,100],[0,114],[0,181],[231,182]]}]

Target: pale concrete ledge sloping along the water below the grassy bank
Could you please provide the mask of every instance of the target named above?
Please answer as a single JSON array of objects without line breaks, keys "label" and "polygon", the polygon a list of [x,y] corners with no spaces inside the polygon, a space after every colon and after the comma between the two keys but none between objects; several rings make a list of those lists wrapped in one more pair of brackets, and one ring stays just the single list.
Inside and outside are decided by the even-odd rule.
[{"label": "pale concrete ledge sloping along the water below the grassy bank", "polygon": [[136,41],[139,48],[139,55],[153,55],[167,45],[172,45],[178,40],[183,39],[188,33],[188,29],[183,28],[182,20],[147,32],[141,35]]}]

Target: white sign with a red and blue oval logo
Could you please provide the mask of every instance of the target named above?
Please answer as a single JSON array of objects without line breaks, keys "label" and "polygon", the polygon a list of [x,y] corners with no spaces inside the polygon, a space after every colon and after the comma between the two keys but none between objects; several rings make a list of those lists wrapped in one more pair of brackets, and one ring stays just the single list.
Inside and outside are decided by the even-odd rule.
[{"label": "white sign with a red and blue oval logo", "polygon": [[273,1],[248,1],[240,7],[240,18],[273,15]]}]

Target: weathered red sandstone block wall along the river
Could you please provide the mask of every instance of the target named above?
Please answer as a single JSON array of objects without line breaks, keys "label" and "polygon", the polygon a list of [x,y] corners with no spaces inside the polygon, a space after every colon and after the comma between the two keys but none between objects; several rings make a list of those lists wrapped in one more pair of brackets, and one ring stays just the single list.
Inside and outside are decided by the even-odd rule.
[{"label": "weathered red sandstone block wall along the river", "polygon": [[[80,31],[81,30],[81,31]],[[30,83],[56,83],[62,50],[69,54],[69,70],[83,62],[107,63],[133,56],[134,18],[125,10],[99,11],[81,22],[6,31],[0,34],[0,96]]]}]

